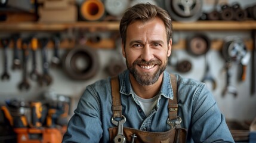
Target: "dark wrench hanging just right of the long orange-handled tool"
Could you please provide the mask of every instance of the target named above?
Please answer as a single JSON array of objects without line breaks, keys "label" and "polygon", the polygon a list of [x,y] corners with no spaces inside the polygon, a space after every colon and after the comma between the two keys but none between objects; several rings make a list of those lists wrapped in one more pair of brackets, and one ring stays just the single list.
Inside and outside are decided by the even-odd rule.
[{"label": "dark wrench hanging just right of the long orange-handled tool", "polygon": [[49,63],[47,61],[47,44],[49,39],[42,38],[39,39],[39,42],[41,44],[41,51],[42,51],[42,70],[43,73],[39,79],[39,85],[50,85],[53,81],[51,75],[49,74]]}]

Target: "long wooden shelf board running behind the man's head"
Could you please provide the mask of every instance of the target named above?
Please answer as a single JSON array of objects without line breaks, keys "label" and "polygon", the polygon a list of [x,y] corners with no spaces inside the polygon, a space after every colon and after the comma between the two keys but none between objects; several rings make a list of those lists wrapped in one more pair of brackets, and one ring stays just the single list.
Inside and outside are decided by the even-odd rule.
[{"label": "long wooden shelf board running behind the man's head", "polygon": [[[196,21],[184,23],[172,21],[173,30],[252,30],[256,29],[256,21]],[[119,30],[119,21],[78,21],[76,23],[0,23],[0,31],[63,31],[70,28],[90,30]]]}]

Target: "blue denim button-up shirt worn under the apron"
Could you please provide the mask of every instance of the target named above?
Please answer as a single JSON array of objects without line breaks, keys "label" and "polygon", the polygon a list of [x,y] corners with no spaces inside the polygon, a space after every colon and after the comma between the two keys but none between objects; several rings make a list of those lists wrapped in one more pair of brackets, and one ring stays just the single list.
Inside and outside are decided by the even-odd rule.
[{"label": "blue denim button-up shirt worn under the apron", "polygon": [[[181,127],[188,130],[187,142],[234,142],[225,118],[204,83],[177,76],[178,116]],[[171,127],[168,100],[173,99],[171,77],[164,71],[158,102],[149,116],[141,110],[129,81],[129,71],[119,74],[124,127],[149,132],[165,132]],[[110,77],[87,86],[69,121],[63,142],[110,142],[112,124],[112,95]]]}]

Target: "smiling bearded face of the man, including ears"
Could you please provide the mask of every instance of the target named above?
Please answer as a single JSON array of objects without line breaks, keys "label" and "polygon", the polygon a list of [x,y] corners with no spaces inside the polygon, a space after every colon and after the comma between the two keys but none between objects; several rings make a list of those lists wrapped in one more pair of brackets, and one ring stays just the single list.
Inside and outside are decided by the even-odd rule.
[{"label": "smiling bearded face of the man, including ears", "polygon": [[152,85],[166,69],[172,43],[166,39],[165,25],[160,18],[129,24],[122,54],[129,72],[140,85]]}]

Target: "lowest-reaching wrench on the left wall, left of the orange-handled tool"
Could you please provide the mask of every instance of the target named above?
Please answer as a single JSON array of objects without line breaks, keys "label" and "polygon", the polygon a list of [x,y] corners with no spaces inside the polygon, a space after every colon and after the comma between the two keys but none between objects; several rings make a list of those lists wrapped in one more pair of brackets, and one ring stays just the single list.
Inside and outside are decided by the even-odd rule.
[{"label": "lowest-reaching wrench on the left wall, left of the orange-handled tool", "polygon": [[29,80],[27,79],[27,60],[29,58],[29,40],[28,39],[23,39],[21,49],[22,49],[22,64],[23,64],[23,73],[22,73],[22,80],[18,84],[18,89],[23,90],[26,89],[28,90],[30,88],[29,85]]}]

